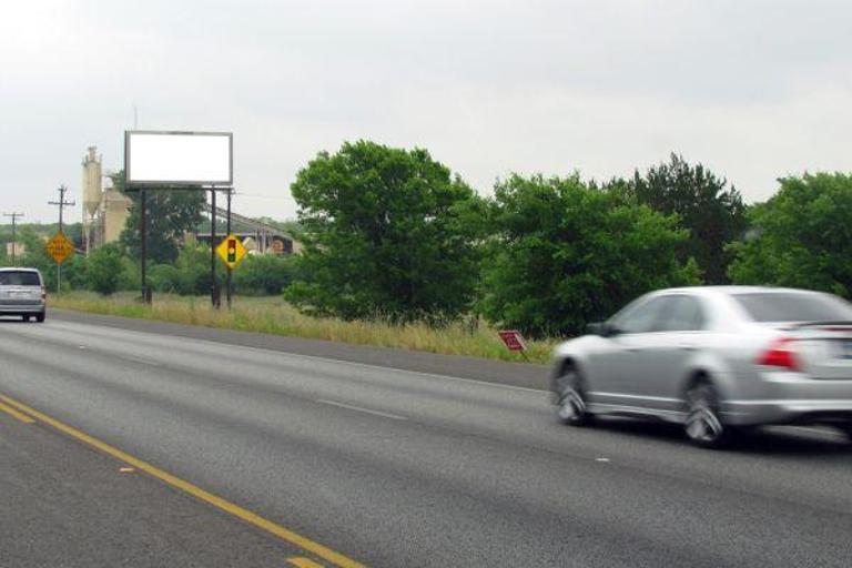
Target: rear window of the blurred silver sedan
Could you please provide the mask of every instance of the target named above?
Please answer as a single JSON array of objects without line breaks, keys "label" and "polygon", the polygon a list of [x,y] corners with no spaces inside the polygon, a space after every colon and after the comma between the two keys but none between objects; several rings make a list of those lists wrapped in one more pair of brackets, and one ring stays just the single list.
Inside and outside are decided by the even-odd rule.
[{"label": "rear window of the blurred silver sedan", "polygon": [[755,322],[852,321],[852,305],[828,294],[769,292],[733,294]]}]

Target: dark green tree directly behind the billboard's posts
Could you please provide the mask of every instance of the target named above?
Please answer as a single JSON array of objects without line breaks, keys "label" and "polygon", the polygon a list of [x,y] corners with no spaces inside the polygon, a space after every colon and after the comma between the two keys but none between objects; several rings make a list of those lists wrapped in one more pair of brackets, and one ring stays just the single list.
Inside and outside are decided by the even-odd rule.
[{"label": "dark green tree directly behind the billboard's posts", "polygon": [[[130,254],[141,254],[140,197],[139,192],[125,192],[124,172],[112,175],[112,183],[131,200],[130,214],[121,243]],[[148,203],[148,257],[154,263],[171,263],[178,258],[178,251],[185,232],[192,232],[202,222],[202,205],[206,192],[200,190],[146,190]]]}]

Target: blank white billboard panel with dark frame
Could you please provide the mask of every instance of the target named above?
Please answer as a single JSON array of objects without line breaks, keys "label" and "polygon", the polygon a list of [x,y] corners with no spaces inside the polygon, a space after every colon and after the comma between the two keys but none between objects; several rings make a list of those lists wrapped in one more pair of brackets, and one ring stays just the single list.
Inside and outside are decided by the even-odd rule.
[{"label": "blank white billboard panel with dark frame", "polygon": [[230,132],[124,132],[128,186],[232,185]]}]

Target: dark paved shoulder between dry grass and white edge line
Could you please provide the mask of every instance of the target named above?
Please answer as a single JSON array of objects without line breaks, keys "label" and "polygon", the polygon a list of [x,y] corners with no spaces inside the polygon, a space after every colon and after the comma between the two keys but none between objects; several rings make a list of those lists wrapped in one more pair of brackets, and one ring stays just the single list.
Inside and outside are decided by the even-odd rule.
[{"label": "dark paved shoulder between dry grass and white edge line", "polygon": [[88,314],[71,310],[51,308],[48,321],[101,325],[159,335],[173,335],[227,345],[307,355],[362,365],[375,365],[399,371],[444,375],[485,383],[546,390],[550,367],[532,363],[506,363],[500,361],[443,355],[418,351],[371,347],[322,339],[306,339],[254,332],[240,332],[196,325],[138,320],[114,315]]}]

